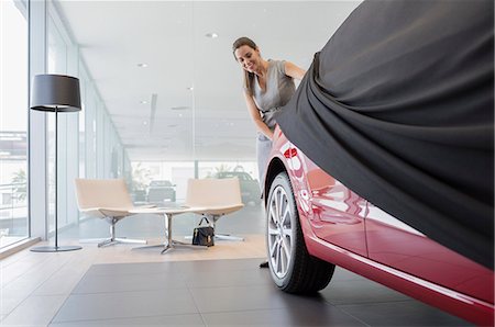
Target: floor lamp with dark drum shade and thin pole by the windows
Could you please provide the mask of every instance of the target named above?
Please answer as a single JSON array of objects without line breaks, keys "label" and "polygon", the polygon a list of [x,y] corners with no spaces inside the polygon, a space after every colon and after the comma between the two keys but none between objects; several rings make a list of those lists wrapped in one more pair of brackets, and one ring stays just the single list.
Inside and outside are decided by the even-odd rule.
[{"label": "floor lamp with dark drum shade and thin pole by the windows", "polygon": [[31,89],[31,109],[55,113],[55,246],[32,248],[34,252],[80,250],[80,246],[58,246],[57,153],[58,113],[80,111],[79,80],[64,75],[36,75]]}]

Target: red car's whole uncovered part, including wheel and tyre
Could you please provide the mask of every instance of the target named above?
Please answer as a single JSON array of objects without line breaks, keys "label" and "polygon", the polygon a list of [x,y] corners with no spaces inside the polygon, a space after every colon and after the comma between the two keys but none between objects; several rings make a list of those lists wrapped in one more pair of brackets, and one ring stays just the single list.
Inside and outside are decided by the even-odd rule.
[{"label": "red car's whole uncovered part, including wheel and tyre", "polygon": [[278,127],[264,199],[270,270],[280,290],[318,292],[339,266],[474,324],[494,324],[492,270],[352,192]]}]

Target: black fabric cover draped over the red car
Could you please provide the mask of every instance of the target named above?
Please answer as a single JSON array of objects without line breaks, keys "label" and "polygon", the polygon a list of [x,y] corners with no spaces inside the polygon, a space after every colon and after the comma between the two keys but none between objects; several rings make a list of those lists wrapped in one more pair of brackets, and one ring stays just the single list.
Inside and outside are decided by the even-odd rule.
[{"label": "black fabric cover draped over the red car", "polygon": [[494,4],[364,1],[276,116],[315,164],[493,269]]}]

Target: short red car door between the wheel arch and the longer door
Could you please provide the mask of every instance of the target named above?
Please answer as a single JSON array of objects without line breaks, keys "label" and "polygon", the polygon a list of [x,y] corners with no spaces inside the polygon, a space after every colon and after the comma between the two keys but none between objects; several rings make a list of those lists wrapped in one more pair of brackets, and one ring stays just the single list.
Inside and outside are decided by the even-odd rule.
[{"label": "short red car door between the wheel arch and the longer door", "polygon": [[320,239],[367,256],[365,201],[321,170],[295,146],[290,153],[297,157],[304,170],[305,181],[299,183],[299,192],[309,200],[308,218],[314,233]]}]

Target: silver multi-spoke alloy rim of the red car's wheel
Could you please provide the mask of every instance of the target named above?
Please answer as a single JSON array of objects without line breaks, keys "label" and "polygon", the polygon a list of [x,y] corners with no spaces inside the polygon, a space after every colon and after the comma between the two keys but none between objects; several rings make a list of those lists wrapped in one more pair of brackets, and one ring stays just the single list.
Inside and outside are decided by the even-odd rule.
[{"label": "silver multi-spoke alloy rim of the red car's wheel", "polygon": [[267,224],[268,260],[277,278],[287,274],[293,256],[293,213],[287,193],[277,185],[270,198]]}]

